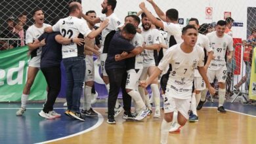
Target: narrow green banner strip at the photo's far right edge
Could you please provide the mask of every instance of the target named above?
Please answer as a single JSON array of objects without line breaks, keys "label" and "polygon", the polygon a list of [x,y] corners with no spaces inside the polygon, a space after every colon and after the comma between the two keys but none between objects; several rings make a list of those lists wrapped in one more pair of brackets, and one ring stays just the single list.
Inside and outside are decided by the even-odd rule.
[{"label": "narrow green banner strip at the photo's far right edge", "polygon": [[251,60],[251,78],[249,84],[249,99],[256,100],[256,48],[253,48],[253,60]]}]

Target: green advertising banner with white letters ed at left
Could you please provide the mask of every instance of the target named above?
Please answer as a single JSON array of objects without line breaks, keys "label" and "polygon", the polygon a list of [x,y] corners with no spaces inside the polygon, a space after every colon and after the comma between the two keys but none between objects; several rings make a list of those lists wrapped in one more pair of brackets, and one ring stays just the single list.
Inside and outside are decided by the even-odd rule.
[{"label": "green advertising banner with white letters ed at left", "polygon": [[[26,84],[28,46],[0,51],[0,101],[20,101]],[[47,83],[39,71],[30,90],[29,100],[41,100],[47,96]]]}]

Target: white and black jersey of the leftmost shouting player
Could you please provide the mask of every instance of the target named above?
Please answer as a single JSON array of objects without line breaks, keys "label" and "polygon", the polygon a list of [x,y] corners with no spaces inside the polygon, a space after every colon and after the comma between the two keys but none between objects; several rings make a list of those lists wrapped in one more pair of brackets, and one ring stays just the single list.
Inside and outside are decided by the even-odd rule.
[{"label": "white and black jersey of the leftmost shouting player", "polygon": [[[26,45],[29,43],[33,43],[38,37],[40,37],[43,34],[43,29],[45,27],[49,27],[51,25],[43,23],[43,27],[36,27],[34,24],[30,27],[28,27],[28,30],[26,31]],[[32,51],[32,57],[34,56],[41,56],[42,47],[39,47]]]}]

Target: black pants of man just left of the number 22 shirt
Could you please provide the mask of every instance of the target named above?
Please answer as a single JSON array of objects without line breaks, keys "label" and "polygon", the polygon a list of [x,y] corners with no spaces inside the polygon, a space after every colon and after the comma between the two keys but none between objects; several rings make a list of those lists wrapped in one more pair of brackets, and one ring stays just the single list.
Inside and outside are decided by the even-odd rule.
[{"label": "black pants of man just left of the number 22 shirt", "polygon": [[43,75],[45,75],[49,87],[47,101],[43,107],[43,111],[48,113],[49,111],[53,111],[53,105],[60,92],[61,72],[60,67],[45,67],[41,68],[41,71],[43,72]]}]

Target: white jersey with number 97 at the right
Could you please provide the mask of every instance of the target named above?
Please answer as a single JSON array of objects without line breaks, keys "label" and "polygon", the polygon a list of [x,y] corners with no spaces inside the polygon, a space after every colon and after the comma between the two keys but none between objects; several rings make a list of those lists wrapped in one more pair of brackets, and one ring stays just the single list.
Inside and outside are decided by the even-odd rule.
[{"label": "white jersey with number 97 at the right", "polygon": [[213,48],[213,56],[215,56],[214,60],[211,60],[209,65],[209,69],[213,71],[219,70],[221,67],[226,65],[225,55],[226,50],[233,51],[233,39],[230,35],[224,33],[223,37],[217,37],[217,31],[213,31],[211,33],[207,33],[207,37],[209,39],[209,44],[211,48]]}]

